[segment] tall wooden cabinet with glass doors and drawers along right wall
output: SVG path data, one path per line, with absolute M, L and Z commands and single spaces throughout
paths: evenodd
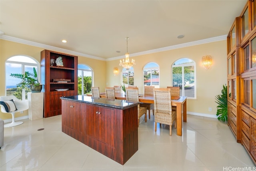
M 256 164 L 256 0 L 246 2 L 227 42 L 228 125 Z

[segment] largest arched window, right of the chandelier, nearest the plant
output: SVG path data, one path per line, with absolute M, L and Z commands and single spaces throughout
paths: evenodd
M 182 96 L 196 98 L 196 63 L 188 58 L 177 60 L 172 65 L 172 86 L 180 87 Z

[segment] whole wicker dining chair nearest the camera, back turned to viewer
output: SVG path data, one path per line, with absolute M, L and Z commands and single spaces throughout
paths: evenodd
M 172 110 L 171 92 L 169 88 L 154 89 L 154 112 L 155 112 L 155 132 L 156 124 L 162 123 L 170 125 L 170 136 L 172 136 L 172 124 L 177 126 L 176 110 Z

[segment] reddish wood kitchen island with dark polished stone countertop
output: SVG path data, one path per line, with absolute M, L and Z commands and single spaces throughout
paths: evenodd
M 124 165 L 138 151 L 138 104 L 84 95 L 60 97 L 62 132 Z

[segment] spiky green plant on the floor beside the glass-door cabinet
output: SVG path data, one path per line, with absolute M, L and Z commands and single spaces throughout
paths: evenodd
M 218 120 L 225 122 L 228 121 L 228 86 L 223 85 L 221 94 L 215 96 L 217 105 Z

